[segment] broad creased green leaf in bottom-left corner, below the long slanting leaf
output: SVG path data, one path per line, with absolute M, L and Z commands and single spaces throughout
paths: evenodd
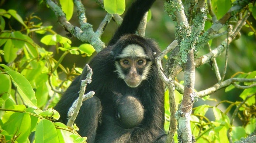
M 27 112 L 13 114 L 2 128 L 10 134 L 19 135 L 17 137 L 18 143 L 24 143 L 30 135 L 31 119 Z

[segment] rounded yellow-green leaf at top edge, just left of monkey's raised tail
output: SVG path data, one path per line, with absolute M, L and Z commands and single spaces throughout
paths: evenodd
M 109 14 L 123 14 L 125 10 L 125 0 L 104 0 L 105 10 Z

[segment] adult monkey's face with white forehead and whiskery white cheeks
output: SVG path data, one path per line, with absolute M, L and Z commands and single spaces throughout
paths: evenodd
M 151 61 L 141 46 L 136 44 L 125 47 L 122 54 L 115 61 L 116 72 L 129 87 L 137 87 L 145 80 L 151 68 Z

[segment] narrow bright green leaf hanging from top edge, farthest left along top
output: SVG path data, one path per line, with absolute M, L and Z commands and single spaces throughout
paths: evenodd
M 63 12 L 66 14 L 66 18 L 69 21 L 73 15 L 74 3 L 73 0 L 60 0 L 60 5 Z

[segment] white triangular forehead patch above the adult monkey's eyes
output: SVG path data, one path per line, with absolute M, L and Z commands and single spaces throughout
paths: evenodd
M 121 55 L 117 56 L 118 58 L 126 58 L 126 57 L 131 57 L 131 58 L 148 58 L 146 56 L 145 51 L 143 48 L 137 44 L 130 44 L 127 47 L 124 48 L 122 51 Z

